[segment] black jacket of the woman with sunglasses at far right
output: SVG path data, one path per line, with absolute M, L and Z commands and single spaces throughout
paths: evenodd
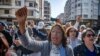
M 81 44 L 74 48 L 74 56 L 87 56 L 85 44 Z M 100 47 L 95 46 L 96 56 L 100 56 Z

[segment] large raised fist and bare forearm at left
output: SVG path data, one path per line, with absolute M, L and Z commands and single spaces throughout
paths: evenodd
M 17 10 L 15 15 L 16 15 L 17 22 L 19 24 L 19 30 L 20 30 L 21 33 L 24 33 L 25 22 L 26 22 L 26 18 L 27 18 L 27 8 L 26 8 L 26 6 Z

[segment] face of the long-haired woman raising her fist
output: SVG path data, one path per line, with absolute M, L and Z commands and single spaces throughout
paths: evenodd
M 62 31 L 59 26 L 55 26 L 51 30 L 51 42 L 55 45 L 61 44 L 62 40 Z

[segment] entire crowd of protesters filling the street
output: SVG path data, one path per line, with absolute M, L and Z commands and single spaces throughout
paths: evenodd
M 100 30 L 80 25 L 81 16 L 74 25 L 57 20 L 45 28 L 42 21 L 27 20 L 26 7 L 15 15 L 17 26 L 0 22 L 0 56 L 100 56 Z

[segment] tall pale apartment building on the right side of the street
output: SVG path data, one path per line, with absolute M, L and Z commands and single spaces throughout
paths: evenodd
M 67 0 L 64 12 L 66 21 L 74 22 L 77 16 L 82 16 L 84 24 L 93 26 L 98 19 L 98 0 Z

